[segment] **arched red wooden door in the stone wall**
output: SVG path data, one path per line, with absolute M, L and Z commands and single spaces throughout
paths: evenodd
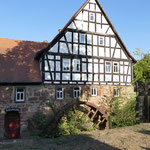
M 6 138 L 20 138 L 20 117 L 18 112 L 8 112 L 5 117 Z

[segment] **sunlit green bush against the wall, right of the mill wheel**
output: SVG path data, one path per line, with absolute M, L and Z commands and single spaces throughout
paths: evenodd
M 113 98 L 109 111 L 110 128 L 134 125 L 137 120 L 135 96 Z

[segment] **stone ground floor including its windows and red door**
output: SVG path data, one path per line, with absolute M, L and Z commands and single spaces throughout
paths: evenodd
M 80 100 L 107 110 L 114 96 L 126 97 L 130 92 L 133 92 L 133 86 L 1 86 L 0 137 L 19 138 L 20 133 L 27 128 L 27 120 L 36 111 L 46 108 L 44 103 L 47 100 L 55 102 L 57 109 L 61 109 L 79 96 Z M 17 130 L 15 134 L 14 130 Z

